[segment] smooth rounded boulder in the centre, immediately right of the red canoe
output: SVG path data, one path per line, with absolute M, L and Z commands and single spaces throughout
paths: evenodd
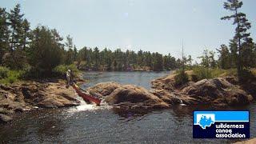
M 90 94 L 97 94 L 111 105 L 126 109 L 162 109 L 170 107 L 162 99 L 148 90 L 134 85 L 121 85 L 116 82 L 102 82 L 88 88 Z

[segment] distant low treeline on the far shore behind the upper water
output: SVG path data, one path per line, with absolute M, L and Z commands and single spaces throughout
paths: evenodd
M 95 47 L 93 50 L 86 47 L 79 50 L 75 58 L 78 67 L 84 70 L 174 70 L 182 65 L 180 59 L 150 51 L 133 50 L 123 52 L 120 49 L 102 51 Z

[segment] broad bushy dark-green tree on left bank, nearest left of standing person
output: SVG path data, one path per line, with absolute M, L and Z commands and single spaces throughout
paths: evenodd
M 54 39 L 52 30 L 38 26 L 32 31 L 30 43 L 30 65 L 40 76 L 49 76 L 55 66 L 61 64 L 62 47 Z

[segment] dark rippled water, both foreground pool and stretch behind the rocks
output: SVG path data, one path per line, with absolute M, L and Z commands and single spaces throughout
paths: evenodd
M 86 86 L 114 81 L 144 86 L 169 72 L 85 73 Z M 86 87 L 85 86 L 85 87 Z M 250 136 L 256 137 L 256 103 L 229 110 L 250 110 Z M 109 106 L 93 105 L 36 110 L 18 114 L 13 122 L 0 125 L 0 142 L 4 143 L 230 143 L 229 139 L 193 139 L 193 110 L 210 110 L 206 106 L 177 106 L 170 110 L 118 111 Z M 237 140 L 236 140 L 237 141 Z

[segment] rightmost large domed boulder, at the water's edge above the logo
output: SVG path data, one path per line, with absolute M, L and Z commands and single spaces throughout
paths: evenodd
M 211 103 L 215 106 L 238 106 L 249 104 L 253 98 L 225 78 L 203 79 L 193 85 L 186 86 L 183 94 L 198 98 L 201 103 Z

